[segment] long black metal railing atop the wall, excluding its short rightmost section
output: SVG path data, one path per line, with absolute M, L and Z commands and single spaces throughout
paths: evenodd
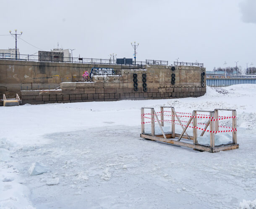
M 85 64 L 116 64 L 116 59 L 94 59 L 94 58 L 83 58 L 83 57 L 63 57 L 63 56 L 42 56 L 42 55 L 30 55 L 30 54 L 18 54 L 18 58 L 15 58 L 15 54 L 0 53 L 0 59 L 10 60 L 24 60 L 24 61 L 44 61 L 44 62 L 71 62 L 71 63 L 85 63 Z M 146 61 L 133 61 L 134 66 L 142 66 L 146 64 L 153 65 L 168 65 L 168 61 L 162 60 L 147 60 Z

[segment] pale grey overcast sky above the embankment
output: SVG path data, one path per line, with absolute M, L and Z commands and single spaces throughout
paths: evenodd
M 1 1 L 0 35 L 23 31 L 44 51 L 75 48 L 73 56 L 256 65 L 256 0 L 12 0 Z M 0 48 L 15 48 L 0 36 Z M 39 49 L 18 40 L 21 54 Z

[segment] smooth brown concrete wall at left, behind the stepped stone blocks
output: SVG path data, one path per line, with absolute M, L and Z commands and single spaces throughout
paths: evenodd
M 0 98 L 14 97 L 21 90 L 54 89 L 61 82 L 79 80 L 92 67 L 120 69 L 117 65 L 55 63 L 0 59 Z

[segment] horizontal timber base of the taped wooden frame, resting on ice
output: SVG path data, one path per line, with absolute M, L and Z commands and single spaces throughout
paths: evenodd
M 210 146 L 201 145 L 201 144 L 185 143 L 185 142 L 178 141 L 178 138 L 170 139 L 172 137 L 171 133 L 167 133 L 165 135 L 166 135 L 167 139 L 165 139 L 163 137 L 163 135 L 152 136 L 149 134 L 142 133 L 141 138 L 149 139 L 152 141 L 170 143 L 170 144 L 179 145 L 179 146 L 183 146 L 183 147 L 188 147 L 188 148 L 192 148 L 194 150 L 207 151 L 210 153 L 217 153 L 219 151 L 233 150 L 233 149 L 239 148 L 239 144 L 234 144 L 234 143 L 230 143 L 230 144 L 226 144 L 226 145 L 218 145 L 215 147 L 210 147 Z M 175 134 L 175 137 L 179 137 L 179 134 Z

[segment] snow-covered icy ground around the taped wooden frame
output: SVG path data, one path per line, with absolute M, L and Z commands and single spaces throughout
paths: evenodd
M 256 85 L 240 84 L 199 98 L 0 107 L 0 208 L 255 208 L 255 102 Z M 161 105 L 236 109 L 239 149 L 141 140 L 140 108 Z

